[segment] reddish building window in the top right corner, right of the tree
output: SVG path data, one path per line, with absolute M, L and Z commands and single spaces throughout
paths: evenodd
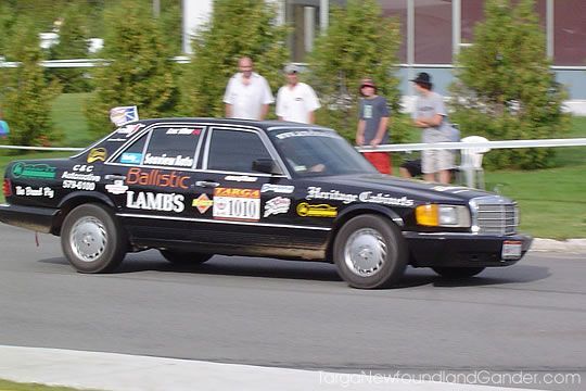
M 555 65 L 586 63 L 586 2 L 556 1 L 553 5 Z

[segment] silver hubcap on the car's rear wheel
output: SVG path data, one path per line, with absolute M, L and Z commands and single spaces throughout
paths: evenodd
M 95 217 L 78 219 L 69 235 L 69 243 L 75 255 L 84 262 L 93 262 L 104 253 L 107 242 L 102 222 Z

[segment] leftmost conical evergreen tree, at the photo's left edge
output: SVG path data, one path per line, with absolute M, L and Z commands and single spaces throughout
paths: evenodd
M 20 146 L 44 146 L 59 138 L 51 124 L 51 101 L 59 94 L 59 87 L 48 84 L 39 47 L 38 30 L 25 17 L 14 26 L 14 36 L 7 51 L 7 60 L 21 65 L 2 71 L 2 106 L 10 124 L 9 142 Z

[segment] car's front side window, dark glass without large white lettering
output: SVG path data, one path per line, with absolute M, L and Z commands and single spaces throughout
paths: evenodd
M 252 165 L 257 159 L 271 159 L 271 155 L 256 133 L 227 129 L 212 133 L 208 169 L 254 173 Z

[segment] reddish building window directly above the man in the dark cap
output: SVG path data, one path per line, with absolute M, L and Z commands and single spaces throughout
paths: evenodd
M 415 0 L 415 62 L 451 63 L 451 0 Z

